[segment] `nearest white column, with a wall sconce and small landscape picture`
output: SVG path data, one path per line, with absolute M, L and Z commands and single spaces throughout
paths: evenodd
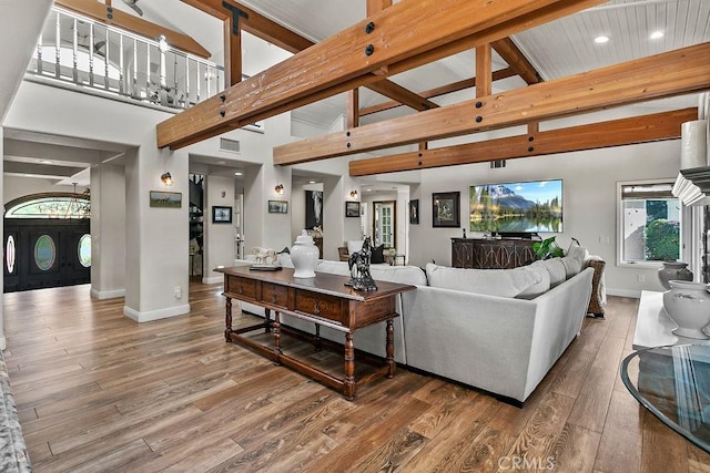
M 173 176 L 170 187 L 161 182 L 165 172 Z M 140 322 L 190 311 L 187 186 L 186 151 L 156 150 L 154 132 L 126 152 L 123 313 Z M 180 206 L 151 206 L 151 191 L 179 194 Z

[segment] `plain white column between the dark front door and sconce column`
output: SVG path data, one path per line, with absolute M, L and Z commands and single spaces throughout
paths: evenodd
M 122 166 L 91 168 L 91 296 L 125 296 L 125 173 Z

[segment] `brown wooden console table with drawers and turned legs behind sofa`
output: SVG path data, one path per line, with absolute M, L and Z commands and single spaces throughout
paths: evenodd
M 347 277 L 325 273 L 316 273 L 315 278 L 294 278 L 292 268 L 283 268 L 277 271 L 256 271 L 251 270 L 248 266 L 235 266 L 215 270 L 224 274 L 223 295 L 226 298 L 224 338 L 227 342 L 250 347 L 276 363 L 307 374 L 332 389 L 342 390 L 348 400 L 354 399 L 357 385 L 366 384 L 383 376 L 387 378 L 394 376 L 393 319 L 398 317 L 398 313 L 395 312 L 395 300 L 398 294 L 413 290 L 415 286 L 377 281 L 377 290 L 359 292 L 344 285 L 348 280 Z M 266 309 L 264 322 L 233 329 L 232 299 L 264 307 Z M 274 311 L 273 320 L 270 317 L 271 310 Z M 316 333 L 313 341 L 316 347 L 320 347 L 321 326 L 329 327 L 345 335 L 345 376 L 343 379 L 282 352 L 281 313 L 315 323 Z M 383 321 L 386 322 L 387 330 L 385 366 L 355 381 L 353 332 Z M 254 330 L 273 332 L 273 347 L 264 346 L 243 336 L 243 333 Z

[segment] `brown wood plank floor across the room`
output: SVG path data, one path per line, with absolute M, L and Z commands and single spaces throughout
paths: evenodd
M 348 402 L 225 343 L 220 292 L 192 285 L 190 315 L 140 325 L 89 286 L 4 295 L 34 471 L 710 471 L 619 379 L 637 299 L 611 297 L 607 320 L 586 320 L 518 409 L 404 369 Z

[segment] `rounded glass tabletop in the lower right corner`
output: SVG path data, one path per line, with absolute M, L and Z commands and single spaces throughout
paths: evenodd
M 636 351 L 621 362 L 621 380 L 661 422 L 710 453 L 710 346 Z

